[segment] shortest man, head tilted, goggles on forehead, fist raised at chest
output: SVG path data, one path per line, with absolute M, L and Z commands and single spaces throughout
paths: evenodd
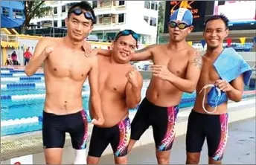
M 109 143 L 115 164 L 127 164 L 130 136 L 129 108 L 141 101 L 143 79 L 129 60 L 137 47 L 138 34 L 132 30 L 118 33 L 112 45 L 111 56 L 97 56 L 99 62 L 99 89 L 103 111 L 103 126 L 94 126 L 87 158 L 88 164 L 97 164 Z M 92 117 L 95 113 L 90 113 Z

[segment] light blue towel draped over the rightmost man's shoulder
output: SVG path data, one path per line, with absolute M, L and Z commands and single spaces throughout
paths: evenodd
M 214 67 L 220 78 L 228 83 L 243 74 L 243 81 L 248 85 L 252 76 L 252 68 L 234 48 L 225 48 L 215 60 Z

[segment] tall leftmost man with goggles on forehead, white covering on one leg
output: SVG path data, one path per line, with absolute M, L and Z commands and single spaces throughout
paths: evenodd
M 82 88 L 89 77 L 95 124 L 102 125 L 103 114 L 98 92 L 97 56 L 87 58 L 84 39 L 92 30 L 95 14 L 86 2 L 74 4 L 68 10 L 65 25 L 67 36 L 43 38 L 25 68 L 32 76 L 44 62 L 45 108 L 42 120 L 42 140 L 46 164 L 61 164 L 65 132 L 71 135 L 76 149 L 74 164 L 86 164 L 87 117 L 83 110 Z

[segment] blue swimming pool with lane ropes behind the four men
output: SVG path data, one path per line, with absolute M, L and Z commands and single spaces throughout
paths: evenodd
M 42 129 L 42 110 L 45 101 L 44 77 L 42 73 L 35 77 L 25 77 L 24 74 L 24 71 L 1 70 L 1 136 Z M 148 84 L 149 80 L 144 80 L 142 98 L 145 96 Z M 87 82 L 83 85 L 82 96 L 83 107 L 88 114 L 89 83 Z M 194 99 L 195 93 L 183 94 L 180 108 L 193 106 Z

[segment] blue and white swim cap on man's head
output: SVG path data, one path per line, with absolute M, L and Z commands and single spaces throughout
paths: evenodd
M 175 10 L 172 15 L 170 15 L 170 22 L 176 20 L 185 22 L 188 25 L 192 25 L 193 15 L 190 10 L 185 8 L 179 8 L 178 10 Z

